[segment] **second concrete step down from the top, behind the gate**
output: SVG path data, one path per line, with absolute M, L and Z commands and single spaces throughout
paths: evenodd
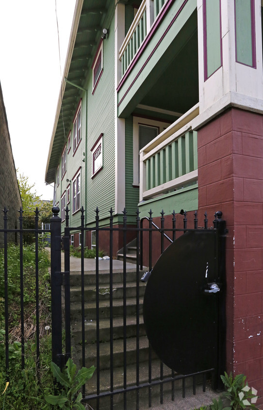
M 144 295 L 146 283 L 139 282 L 140 287 L 140 296 Z M 75 286 L 70 290 L 70 300 L 71 302 L 80 302 L 81 301 L 81 287 Z M 113 286 L 113 297 L 116 299 L 123 298 L 123 283 L 115 283 Z M 136 297 L 136 283 L 127 282 L 126 284 L 126 297 Z M 84 289 L 84 298 L 88 301 L 96 300 L 96 285 L 85 286 Z M 99 285 L 99 300 L 107 300 L 110 298 L 110 288 L 108 285 Z

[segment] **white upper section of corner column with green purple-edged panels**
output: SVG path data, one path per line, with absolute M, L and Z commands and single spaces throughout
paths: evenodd
M 199 110 L 263 109 L 261 0 L 197 0 Z

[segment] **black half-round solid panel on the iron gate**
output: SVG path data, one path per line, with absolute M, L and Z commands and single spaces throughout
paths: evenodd
M 148 279 L 144 323 L 158 357 L 186 375 L 214 368 L 217 358 L 218 280 L 215 232 L 189 231 L 160 256 Z

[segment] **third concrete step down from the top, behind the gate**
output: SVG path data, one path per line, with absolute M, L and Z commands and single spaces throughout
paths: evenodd
M 75 302 L 71 304 L 70 315 L 72 320 L 80 320 L 81 318 L 81 302 Z M 96 301 L 88 302 L 84 304 L 85 320 L 95 320 L 96 319 Z M 143 296 L 139 298 L 139 312 L 143 312 Z M 135 315 L 136 314 L 136 298 L 126 299 L 126 314 Z M 113 316 L 122 317 L 123 316 L 123 299 L 113 299 Z M 110 317 L 110 300 L 102 300 L 99 302 L 99 318 L 107 319 Z

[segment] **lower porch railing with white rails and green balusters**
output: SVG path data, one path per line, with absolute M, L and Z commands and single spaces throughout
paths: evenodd
M 140 202 L 197 182 L 197 103 L 140 151 Z

